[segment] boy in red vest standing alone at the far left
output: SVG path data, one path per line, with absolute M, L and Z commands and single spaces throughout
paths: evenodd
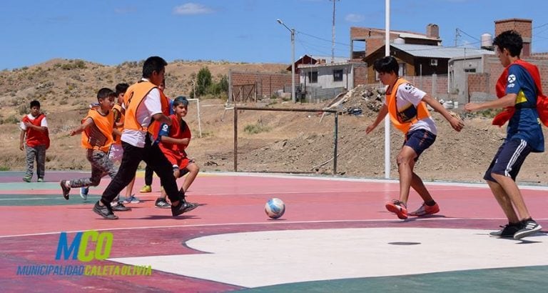
M 31 101 L 31 113 L 21 119 L 19 127 L 21 128 L 19 149 L 24 150 L 26 145 L 26 174 L 23 181 L 31 182 L 34 173 L 34 160 L 36 159 L 36 177 L 38 177 L 38 182 L 44 182 L 49 134 L 46 115 L 40 112 L 39 101 Z

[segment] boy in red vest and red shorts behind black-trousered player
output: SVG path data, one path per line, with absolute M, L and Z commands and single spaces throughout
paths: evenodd
M 171 126 L 163 124 L 158 134 L 160 149 L 168 161 L 173 165 L 173 177 L 176 179 L 188 173 L 180 192 L 185 193 L 200 172 L 200 167 L 194 160 L 188 159 L 186 147 L 191 142 L 191 129 L 183 118 L 188 113 L 188 100 L 185 96 L 178 96 L 173 100 L 173 114 L 169 116 Z M 161 189 L 161 197 L 156 199 L 156 207 L 162 207 L 159 202 L 166 202 L 166 192 Z M 165 205 L 165 204 L 164 204 Z

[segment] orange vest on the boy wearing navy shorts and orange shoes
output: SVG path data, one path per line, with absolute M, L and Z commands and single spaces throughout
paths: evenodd
M 405 114 L 403 114 L 402 112 L 397 111 L 396 94 L 397 89 L 402 84 L 410 84 L 410 82 L 399 77 L 396 80 L 394 86 L 392 86 L 392 91 L 390 92 L 390 94 L 386 95 L 386 105 L 388 108 L 388 114 L 390 114 L 390 120 L 392 121 L 392 124 L 403 133 L 407 133 L 412 124 L 415 124 L 420 119 L 430 117 L 430 112 L 428 111 L 428 109 L 426 109 L 424 101 L 421 101 L 417 105 L 417 114 L 415 114 L 415 116 L 408 117 L 405 116 Z

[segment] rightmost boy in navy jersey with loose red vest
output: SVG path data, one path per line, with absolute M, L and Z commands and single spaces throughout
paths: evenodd
M 544 152 L 544 135 L 537 112 L 537 96 L 542 95 L 542 87 L 537 66 L 519 59 L 523 48 L 522 36 L 516 31 L 504 31 L 493 39 L 493 45 L 505 67 L 496 86 L 499 99 L 468 103 L 465 110 L 507 108 L 493 119 L 493 124 L 499 126 L 509 121 L 507 136 L 483 179 L 508 219 L 503 229 L 490 235 L 522 239 L 542 229 L 529 214 L 515 182 L 529 153 Z

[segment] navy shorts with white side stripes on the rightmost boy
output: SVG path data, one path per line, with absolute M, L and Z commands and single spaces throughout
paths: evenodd
M 487 168 L 483 179 L 497 182 L 491 176 L 494 173 L 512 177 L 516 181 L 519 169 L 522 168 L 522 164 L 529 153 L 531 153 L 531 146 L 523 139 L 504 141 L 502 146 L 499 147 L 497 154 L 494 155 L 493 161 L 489 165 L 489 168 Z

